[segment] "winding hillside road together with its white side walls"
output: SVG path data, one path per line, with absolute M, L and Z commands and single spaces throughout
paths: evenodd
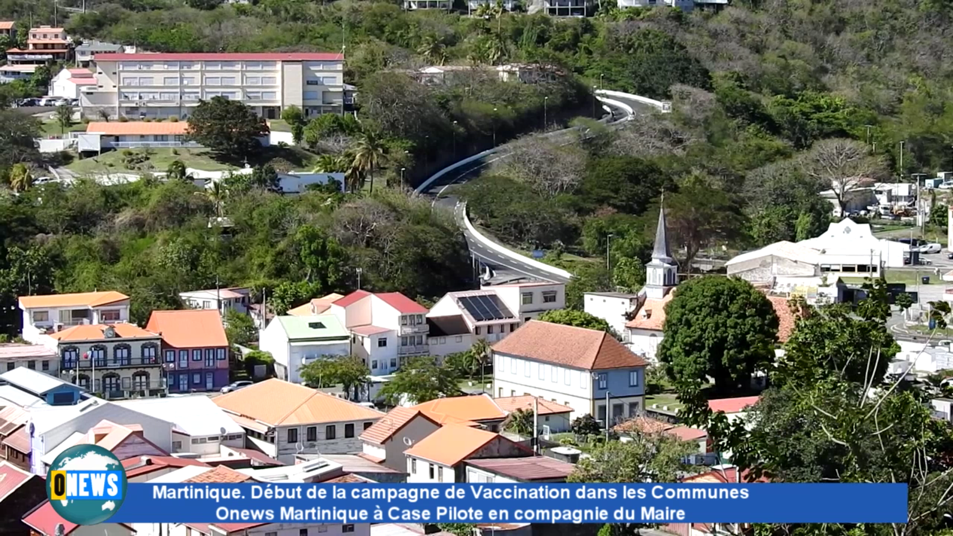
M 660 103 L 646 103 L 649 99 L 643 99 L 637 95 L 622 96 L 625 93 L 609 93 L 612 94 L 606 95 L 605 97 L 603 97 L 603 95 L 599 96 L 599 100 L 603 103 L 603 110 L 606 111 L 606 114 L 601 120 L 609 125 L 621 125 L 624 121 L 629 120 L 631 115 L 630 110 L 632 113 L 651 113 L 658 111 L 660 108 Z M 558 136 L 560 134 L 568 134 L 572 130 L 574 129 L 565 129 L 541 135 Z M 490 238 L 477 236 L 471 229 L 468 229 L 468 226 L 465 224 L 466 205 L 461 203 L 459 199 L 453 195 L 453 190 L 450 189 L 450 187 L 478 176 L 483 168 L 509 155 L 502 153 L 503 150 L 505 150 L 505 146 L 464 158 L 456 162 L 456 164 L 431 175 L 417 187 L 416 193 L 422 196 L 433 197 L 434 200 L 432 204 L 435 208 L 440 207 L 443 210 L 453 211 L 456 221 L 463 230 L 463 236 L 466 237 L 471 256 L 479 261 L 481 274 L 486 274 L 491 277 L 488 282 L 498 284 L 520 278 L 540 279 L 558 283 L 569 282 L 569 277 L 554 273 L 552 269 L 546 269 L 540 266 L 539 262 L 535 259 L 527 258 L 513 251 L 509 251 L 509 255 L 502 253 L 500 251 L 501 249 L 507 250 L 508 248 L 502 244 L 497 244 L 495 248 L 489 241 Z

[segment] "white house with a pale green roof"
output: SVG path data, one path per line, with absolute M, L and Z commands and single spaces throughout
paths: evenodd
M 258 347 L 274 358 L 278 378 L 301 382 L 300 369 L 322 356 L 348 356 L 351 336 L 335 315 L 275 317 L 261 332 Z

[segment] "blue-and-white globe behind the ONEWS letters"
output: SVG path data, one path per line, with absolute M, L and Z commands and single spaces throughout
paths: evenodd
M 65 481 L 62 478 L 51 478 L 52 471 L 119 471 L 120 479 L 116 483 L 120 490 L 119 499 L 91 498 L 91 499 L 54 499 L 63 495 Z M 95 485 L 84 482 L 90 488 Z M 59 486 L 54 489 L 53 486 Z M 53 460 L 47 475 L 47 497 L 56 513 L 66 521 L 75 525 L 96 525 L 104 523 L 119 510 L 126 498 L 126 472 L 122 463 L 113 456 L 112 452 L 94 444 L 77 444 L 64 450 Z M 66 486 L 71 490 L 73 487 Z

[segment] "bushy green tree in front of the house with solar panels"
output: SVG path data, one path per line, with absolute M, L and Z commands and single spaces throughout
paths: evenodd
M 394 378 L 381 387 L 380 396 L 395 405 L 455 397 L 461 394 L 456 381 L 453 371 L 437 366 L 433 356 L 418 356 L 401 365 Z

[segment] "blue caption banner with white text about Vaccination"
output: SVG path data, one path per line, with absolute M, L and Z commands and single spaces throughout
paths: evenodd
M 906 484 L 129 484 L 110 523 L 905 523 Z

